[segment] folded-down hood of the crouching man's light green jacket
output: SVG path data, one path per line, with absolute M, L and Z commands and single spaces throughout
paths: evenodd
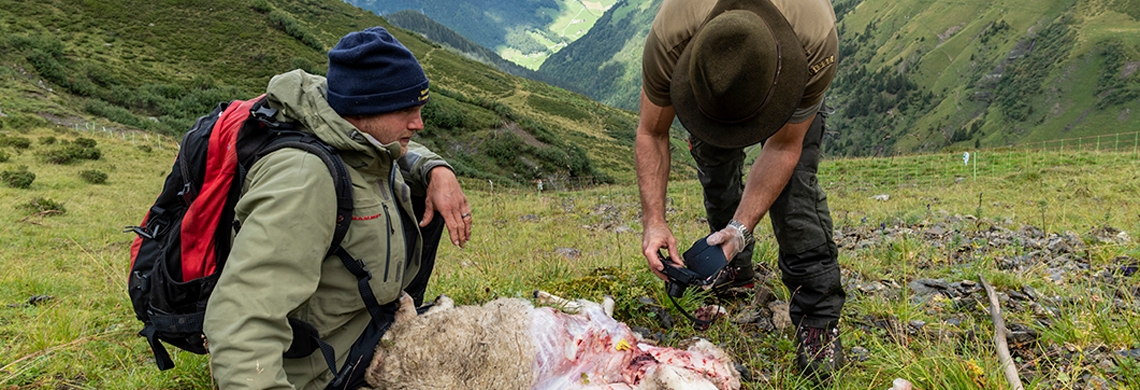
M 283 115 L 283 120 L 300 122 L 303 128 L 336 149 L 369 155 L 386 151 L 393 160 L 398 159 L 400 143 L 380 144 L 357 130 L 328 105 L 327 86 L 324 76 L 295 70 L 270 79 L 266 95 L 269 106 L 279 109 L 278 115 Z

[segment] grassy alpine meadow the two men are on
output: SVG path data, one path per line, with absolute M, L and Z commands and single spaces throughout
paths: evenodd
M 8 139 L 28 140 L 26 148 L 0 146 L 8 157 L 0 162 L 0 172 L 26 165 L 35 174 L 26 189 L 0 185 L 0 388 L 212 388 L 205 356 L 178 352 L 174 369 L 157 371 L 145 340 L 136 335 L 140 324 L 125 293 L 133 235 L 122 233 L 123 227 L 137 225 L 154 201 L 177 144 L 141 132 L 79 129 L 0 131 Z M 81 137 L 97 141 L 100 159 L 43 161 L 47 151 Z M 1090 233 L 1113 227 L 1140 235 L 1140 159 L 1131 149 L 993 155 L 988 159 L 1008 156 L 1010 162 L 984 165 L 990 169 L 976 177 L 960 155 L 823 164 L 821 184 L 829 193 L 837 235 L 863 231 L 876 237 L 852 249 L 841 244 L 845 283 L 901 286 L 888 293 L 846 287 L 841 331 L 852 363 L 828 388 L 885 389 L 893 379 L 904 377 L 921 389 L 1005 389 L 993 325 L 982 303 L 985 295 L 977 304 L 944 304 L 939 298 L 915 301 L 907 287 L 920 278 L 958 282 L 979 276 L 1010 295 L 1032 287 L 1054 309 L 1042 322 L 1032 310 L 1003 307 L 1007 324 L 1026 324 L 1036 332 L 1026 350 L 1059 351 L 1018 361 L 1035 367 L 1024 376 L 1027 388 L 1093 388 L 1098 380 L 1109 388 L 1140 388 L 1140 356 L 1124 354 L 1140 349 L 1140 276 L 1098 277 L 1121 261 L 1134 263 L 1140 249 L 1134 239 L 1102 242 Z M 81 179 L 80 172 L 89 170 L 105 172 L 106 182 Z M 481 303 L 529 296 L 536 289 L 591 300 L 610 294 L 617 299 L 619 320 L 658 334 L 662 343 L 698 335 L 724 346 L 751 372 L 746 389 L 808 387 L 795 373 L 790 330 L 765 332 L 730 320 L 747 309 L 750 295 L 717 302 L 730 309 L 730 318 L 707 331 L 694 331 L 677 311 L 671 311 L 671 328 L 661 326 L 656 310 L 673 308 L 663 303 L 663 285 L 645 270 L 640 254 L 634 184 L 538 192 L 470 180 L 465 188 L 475 217 L 473 238 L 465 249 L 441 246 L 429 296 L 448 294 L 458 303 Z M 46 212 L 33 203 L 65 210 Z M 695 181 L 670 186 L 668 216 L 685 245 L 707 234 L 702 210 Z M 1060 281 L 1050 278 L 1044 266 L 1001 269 L 1003 259 L 1032 257 L 1031 251 L 971 238 L 1025 225 L 1081 237 L 1085 268 Z M 961 238 L 956 245 L 926 239 L 935 226 L 944 236 Z M 901 234 L 901 228 L 913 234 Z M 767 221 L 756 236 L 757 263 L 777 270 Z M 787 299 L 779 273 L 769 276 L 763 284 Z M 691 310 L 714 302 L 691 294 L 681 303 Z M 915 320 L 926 324 L 922 331 L 881 326 Z

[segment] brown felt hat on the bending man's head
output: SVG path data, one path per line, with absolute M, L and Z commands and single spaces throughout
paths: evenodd
M 743 147 L 788 122 L 806 83 L 804 48 L 772 2 L 720 0 L 681 52 L 669 95 L 693 136 Z

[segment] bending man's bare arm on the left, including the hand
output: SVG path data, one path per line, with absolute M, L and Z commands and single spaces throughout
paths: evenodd
M 666 247 L 669 257 L 678 265 L 677 238 L 665 220 L 665 194 L 669 181 L 669 127 L 675 112 L 673 106 L 654 105 L 641 94 L 641 116 L 634 141 L 634 160 L 637 166 L 637 188 L 642 202 L 642 255 L 649 261 L 650 270 L 658 277 L 661 261 L 657 253 Z

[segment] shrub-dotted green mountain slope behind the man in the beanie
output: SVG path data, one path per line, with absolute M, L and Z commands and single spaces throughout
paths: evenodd
M 97 123 L 178 136 L 219 101 L 261 94 L 274 74 L 324 73 L 327 48 L 373 25 L 389 26 L 333 0 L 0 0 L 0 131 Z M 390 30 L 432 80 L 417 140 L 461 176 L 633 180 L 632 113 Z

